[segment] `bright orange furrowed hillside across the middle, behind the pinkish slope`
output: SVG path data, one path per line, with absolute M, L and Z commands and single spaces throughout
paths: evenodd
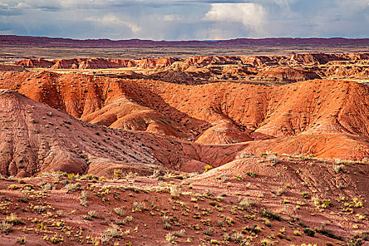
M 192 139 L 212 124 L 226 122 L 239 134 L 244 131 L 255 140 L 287 136 L 282 138 L 284 143 L 279 142 L 278 153 L 284 150 L 340 158 L 347 155 L 356 160 L 368 157 L 369 88 L 356 82 L 313 80 L 275 87 L 223 82 L 186 86 L 51 72 L 1 75 L 1 88 L 18 89 L 34 100 L 107 127 Z M 223 141 L 222 131 L 211 129 L 202 136 L 209 132 L 219 135 L 209 140 L 200 136 L 197 139 L 202 139 L 202 143 L 246 140 Z M 330 145 L 316 134 L 322 134 Z M 332 137 L 334 134 L 341 135 Z M 293 144 L 294 139 L 299 139 L 298 145 Z M 353 139 L 361 148 L 347 145 Z M 250 147 L 254 151 L 276 150 L 272 143 L 273 140 L 247 145 L 254 146 Z M 344 151 L 336 148 L 341 144 L 346 146 Z

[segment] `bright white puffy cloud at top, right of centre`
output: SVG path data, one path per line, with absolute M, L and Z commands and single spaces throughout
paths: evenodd
M 263 32 L 265 20 L 264 8 L 259 4 L 211 4 L 211 9 L 205 14 L 205 20 L 219 22 L 241 22 L 256 33 Z

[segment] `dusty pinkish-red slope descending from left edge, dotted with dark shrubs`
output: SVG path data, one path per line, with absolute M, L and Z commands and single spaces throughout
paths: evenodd
M 114 168 L 200 171 L 233 160 L 240 145 L 207 146 L 81 122 L 15 91 L 0 91 L 0 170 L 8 176 L 40 171 L 101 174 Z M 229 155 L 224 155 L 224 151 Z M 137 166 L 138 165 L 138 166 Z M 103 170 L 103 171 L 102 171 Z

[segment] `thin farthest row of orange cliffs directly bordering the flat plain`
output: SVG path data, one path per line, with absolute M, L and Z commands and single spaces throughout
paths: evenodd
M 190 67 L 207 65 L 324 65 L 335 61 L 369 60 L 369 53 L 301 53 L 287 56 L 190 56 L 189 58 L 143 58 L 140 60 L 111 58 L 73 58 L 45 60 L 43 58 L 18 60 L 14 65 L 22 67 L 46 67 L 53 69 L 105 69 L 136 67 L 141 69 L 188 70 Z

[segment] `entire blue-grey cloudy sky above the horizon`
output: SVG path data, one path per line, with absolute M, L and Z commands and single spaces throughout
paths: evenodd
M 0 34 L 74 39 L 369 37 L 369 0 L 0 0 Z

